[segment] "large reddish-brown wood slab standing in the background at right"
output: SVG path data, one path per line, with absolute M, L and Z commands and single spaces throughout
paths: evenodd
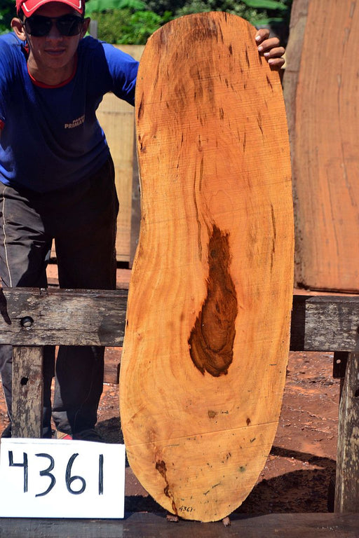
M 295 277 L 311 289 L 358 291 L 359 3 L 296 0 L 293 9 L 297 4 L 307 10 L 299 18 L 306 20 L 303 48 L 292 54 L 290 46 L 287 68 L 295 71 L 295 57 L 301 62 L 294 95 L 293 88 L 286 88 L 288 98 L 292 92 L 287 104 L 295 116 L 295 125 L 290 122 Z

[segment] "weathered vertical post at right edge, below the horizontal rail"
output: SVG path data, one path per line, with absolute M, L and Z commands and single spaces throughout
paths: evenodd
M 339 405 L 334 510 L 359 512 L 359 353 L 350 353 Z

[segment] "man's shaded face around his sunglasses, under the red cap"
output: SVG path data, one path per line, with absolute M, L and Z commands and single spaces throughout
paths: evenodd
M 50 2 L 41 6 L 35 15 L 43 17 L 57 18 L 62 15 L 77 15 L 79 13 L 66 4 L 59 2 Z M 53 23 L 50 32 L 47 36 L 35 37 L 27 34 L 27 42 L 29 43 L 29 66 L 31 62 L 36 63 L 37 70 L 41 72 L 55 70 L 63 70 L 73 65 L 79 41 L 86 33 L 88 23 L 84 22 L 83 31 L 76 36 L 62 36 Z

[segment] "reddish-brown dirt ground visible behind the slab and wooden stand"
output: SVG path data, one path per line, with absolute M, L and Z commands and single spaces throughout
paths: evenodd
M 128 272 L 119 274 L 121 286 Z M 50 282 L 55 283 L 55 276 Z M 118 348 L 107 348 L 112 357 Z M 283 408 L 266 465 L 238 513 L 327 511 L 335 475 L 339 380 L 332 378 L 332 353 L 291 352 Z M 0 390 L 0 431 L 8 419 Z M 97 428 L 109 443 L 122 442 L 118 385 L 104 384 Z M 126 468 L 126 511 L 163 511 Z

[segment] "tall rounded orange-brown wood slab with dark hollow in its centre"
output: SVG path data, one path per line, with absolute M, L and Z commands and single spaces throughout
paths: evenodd
M 280 413 L 292 191 L 278 73 L 225 13 L 165 25 L 137 78 L 140 241 L 121 364 L 128 460 L 172 513 L 248 495 Z

